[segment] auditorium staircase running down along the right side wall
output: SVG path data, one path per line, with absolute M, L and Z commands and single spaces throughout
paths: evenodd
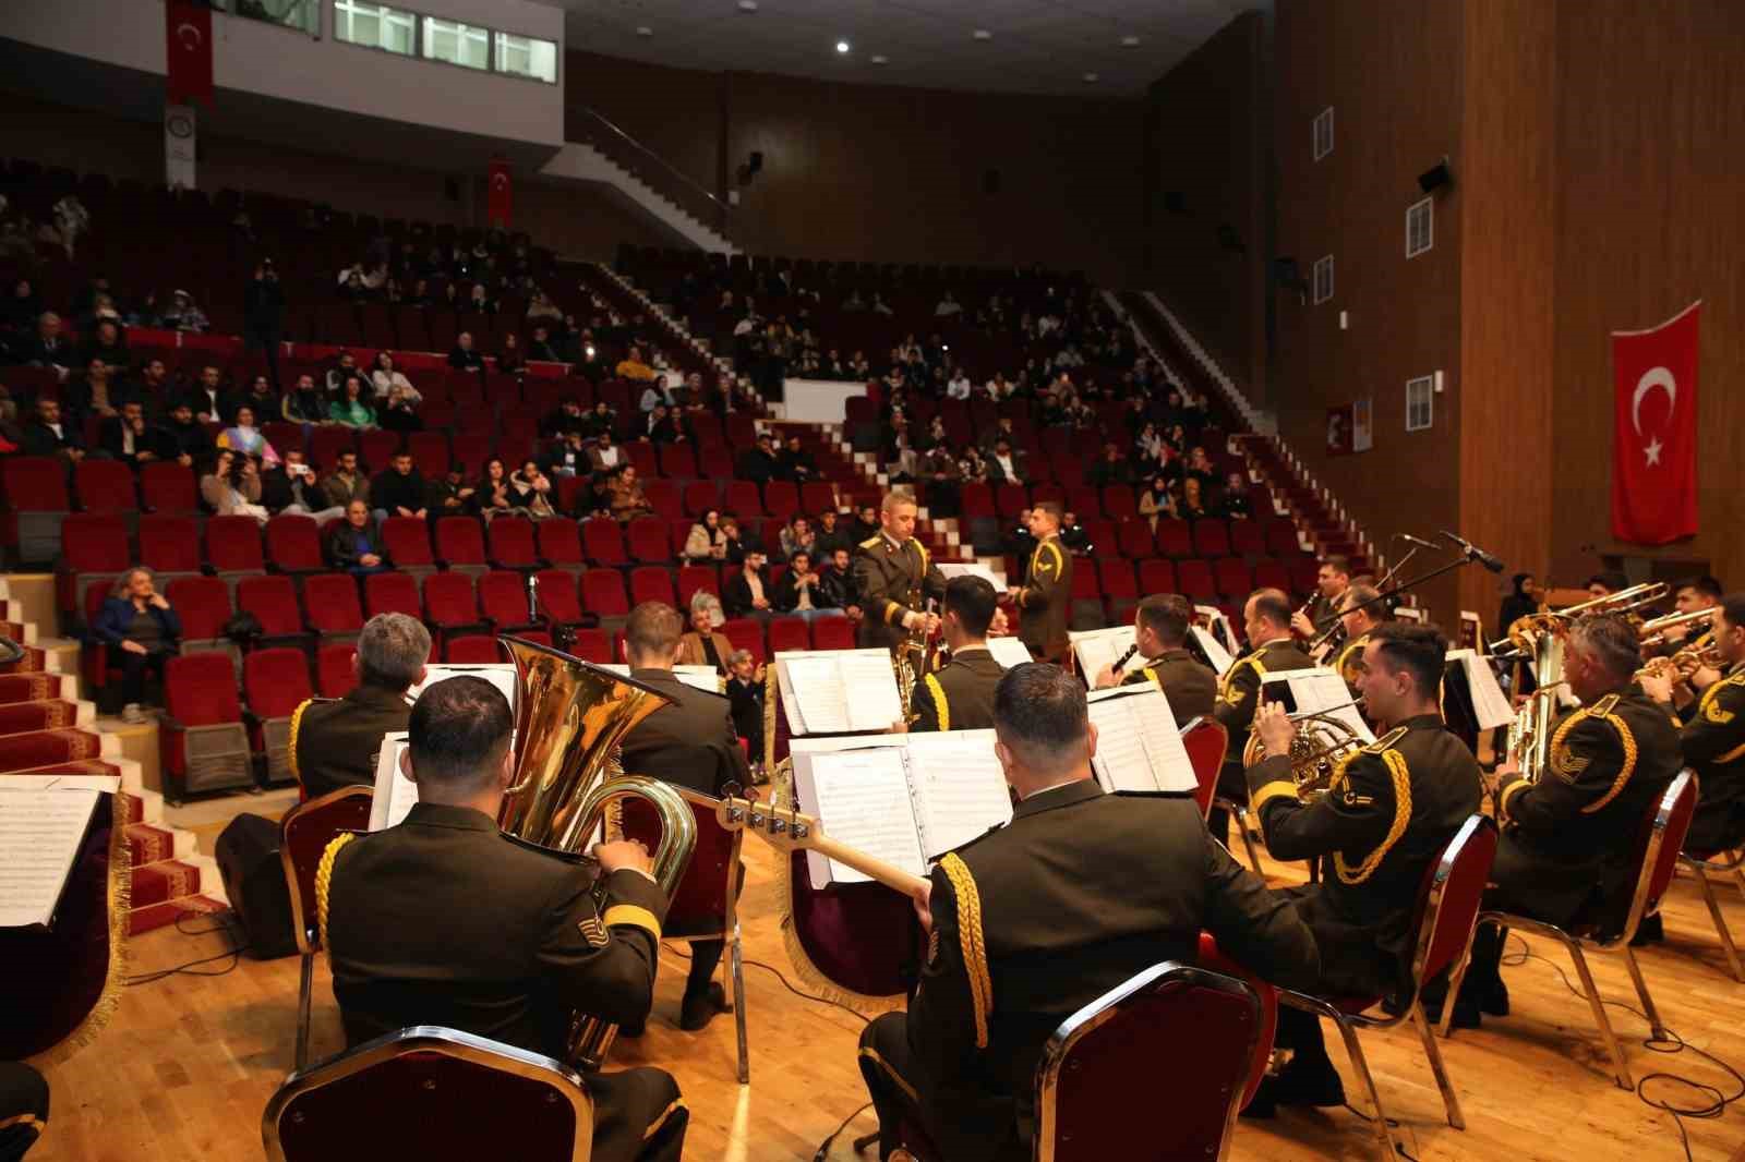
M 1155 291 L 1105 291 L 1134 338 L 1174 382 L 1206 396 L 1230 422 L 1230 452 L 1241 454 L 1270 489 L 1284 515 L 1297 522 L 1298 539 L 1316 557 L 1349 557 L 1352 571 L 1380 565 L 1370 537 L 1330 489 L 1277 434 L 1274 417 L 1260 412 L 1206 347 Z

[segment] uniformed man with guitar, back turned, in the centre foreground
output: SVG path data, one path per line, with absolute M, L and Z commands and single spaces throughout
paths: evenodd
M 1019 799 L 1012 822 L 934 867 L 916 900 L 928 930 L 920 988 L 906 1014 L 860 1036 L 881 1159 L 916 1120 L 953 1162 L 1030 1162 L 1031 1078 L 1049 1035 L 1134 974 L 1192 961 L 1202 928 L 1269 981 L 1316 975 L 1295 909 L 1211 841 L 1192 796 L 1096 785 L 1077 677 L 1012 666 L 995 731 Z

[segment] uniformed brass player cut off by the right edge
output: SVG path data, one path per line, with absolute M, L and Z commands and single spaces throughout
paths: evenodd
M 1684 848 L 1698 855 L 1745 843 L 1745 593 L 1731 593 L 1721 604 L 1710 633 L 1721 670 L 1698 668 L 1689 687 L 1642 679 L 1642 689 L 1661 707 L 1682 703 L 1679 748 L 1703 796 Z

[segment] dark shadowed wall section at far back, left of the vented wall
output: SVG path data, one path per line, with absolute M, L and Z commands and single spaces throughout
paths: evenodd
M 1146 94 L 1139 277 L 1183 316 L 1237 384 L 1265 401 L 1270 122 L 1260 84 L 1267 21 L 1246 12 Z M 1166 197 L 1180 195 L 1180 209 Z M 1220 239 L 1230 227 L 1244 249 Z

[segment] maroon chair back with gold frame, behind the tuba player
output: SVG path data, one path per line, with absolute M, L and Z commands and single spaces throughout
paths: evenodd
M 504 1153 L 504 1127 L 515 1127 L 517 1159 L 579 1162 L 590 1157 L 593 1099 L 551 1057 L 414 1026 L 288 1077 L 260 1138 L 269 1162 L 490 1159 Z

